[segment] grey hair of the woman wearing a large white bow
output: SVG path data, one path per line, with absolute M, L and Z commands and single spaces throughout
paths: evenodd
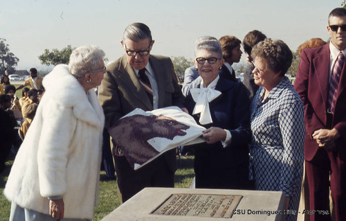
M 194 47 L 194 57 L 197 56 L 197 51 L 204 49 L 206 51 L 214 51 L 218 53 L 219 59 L 222 58 L 221 44 L 218 39 L 211 36 L 202 36 L 197 38 Z

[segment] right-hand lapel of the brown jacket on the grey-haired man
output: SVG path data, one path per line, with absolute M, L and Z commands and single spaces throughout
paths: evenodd
M 150 55 L 149 63 L 152 66 L 154 71 L 154 76 L 158 89 L 158 108 L 164 107 L 165 102 L 165 68 L 163 67 L 162 62 L 158 60 L 154 55 Z

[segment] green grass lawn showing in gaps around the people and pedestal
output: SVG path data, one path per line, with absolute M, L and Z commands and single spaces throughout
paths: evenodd
M 175 184 L 176 188 L 189 188 L 194 177 L 193 170 L 194 157 L 177 159 L 176 163 L 178 170 L 175 173 Z M 0 221 L 7 221 L 10 217 L 10 202 L 6 200 L 3 195 L 3 188 L 5 187 L 8 174 L 13 161 L 6 162 L 6 170 L 0 174 Z M 101 172 L 100 177 L 100 193 L 99 193 L 98 206 L 95 208 L 95 214 L 93 220 L 101 220 L 108 213 L 116 209 L 120 205 L 118 192 L 116 189 L 116 181 L 108 180 L 106 173 Z

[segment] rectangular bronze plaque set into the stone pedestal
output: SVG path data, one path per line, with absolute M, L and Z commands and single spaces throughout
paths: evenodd
M 231 218 L 242 195 L 172 194 L 150 214 Z

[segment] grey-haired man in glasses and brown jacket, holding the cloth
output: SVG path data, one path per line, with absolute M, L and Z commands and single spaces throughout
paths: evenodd
M 119 118 L 136 108 L 151 111 L 172 105 L 183 107 L 183 94 L 172 61 L 150 55 L 154 40 L 149 28 L 142 23 L 130 24 L 125 28 L 121 44 L 125 55 L 107 65 L 98 94 L 105 127 L 113 127 Z M 122 202 L 145 187 L 174 187 L 174 150 L 138 170 L 129 166 L 121 150 L 113 148 L 112 152 Z

